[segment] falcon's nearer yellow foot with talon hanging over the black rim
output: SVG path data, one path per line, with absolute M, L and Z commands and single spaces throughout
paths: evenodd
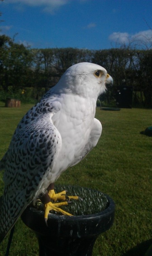
M 45 210 L 44 219 L 45 219 L 46 224 L 47 224 L 48 214 L 52 210 L 54 210 L 56 212 L 61 212 L 63 215 L 73 216 L 69 212 L 65 212 L 64 210 L 59 208 L 59 206 L 61 206 L 61 205 L 68 205 L 68 202 L 61 202 L 61 203 L 49 202 L 49 203 L 44 204 L 44 210 Z

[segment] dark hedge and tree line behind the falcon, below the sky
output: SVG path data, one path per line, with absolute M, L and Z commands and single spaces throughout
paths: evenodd
M 102 96 L 107 104 L 115 101 L 117 86 L 125 85 L 133 86 L 135 106 L 152 108 L 152 49 L 33 49 L 6 35 L 0 35 L 0 100 L 39 100 L 67 68 L 83 61 L 103 66 L 113 77 L 113 88 Z

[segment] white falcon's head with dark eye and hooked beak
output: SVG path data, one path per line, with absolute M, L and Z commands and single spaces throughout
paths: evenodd
M 97 99 L 106 90 L 106 84 L 110 83 L 113 83 L 113 79 L 105 68 L 90 62 L 81 62 L 65 71 L 58 86 L 67 93 L 69 91 L 82 97 Z

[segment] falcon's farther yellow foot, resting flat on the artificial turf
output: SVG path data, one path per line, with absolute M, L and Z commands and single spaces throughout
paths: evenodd
M 70 200 L 70 199 L 75 199 L 75 200 L 78 200 L 78 199 L 81 199 L 80 197 L 78 196 L 67 196 L 66 195 L 67 191 L 66 190 L 63 190 L 62 192 L 60 193 L 57 193 L 55 194 L 55 191 L 54 189 L 51 189 L 49 192 L 48 192 L 48 195 L 49 197 L 53 200 L 53 201 L 57 201 L 57 200 Z

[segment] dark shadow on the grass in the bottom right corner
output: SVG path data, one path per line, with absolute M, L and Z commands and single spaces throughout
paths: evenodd
M 144 256 L 148 248 L 152 245 L 152 239 L 137 244 L 128 252 L 122 254 L 122 256 Z

